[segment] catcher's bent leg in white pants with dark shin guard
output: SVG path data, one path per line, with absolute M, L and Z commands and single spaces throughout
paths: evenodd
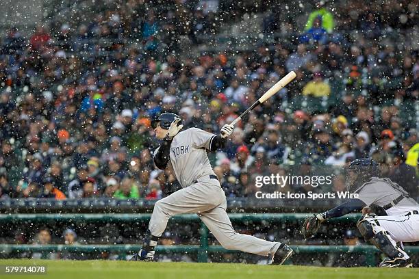
M 366 241 L 370 241 L 387 256 L 380 267 L 411 267 L 407 253 L 396 245 L 398 241 L 411 241 L 407 233 L 411 225 L 405 216 L 375 215 L 364 215 L 357 224 Z

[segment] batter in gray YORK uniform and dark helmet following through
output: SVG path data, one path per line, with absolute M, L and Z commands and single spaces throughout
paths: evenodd
M 268 256 L 268 263 L 279 265 L 292 255 L 293 250 L 285 243 L 242 235 L 231 226 L 224 191 L 207 157 L 207 150 L 225 146 L 227 136 L 233 131 L 231 125 L 225 124 L 220 135 L 197 128 L 181 131 L 179 116 L 164 113 L 151 126 L 157 139 L 162 139 L 154 153 L 155 165 L 160 170 L 172 165 L 183 189 L 155 203 L 142 249 L 131 261 L 153 261 L 154 248 L 169 218 L 182 213 L 197 213 L 226 249 Z

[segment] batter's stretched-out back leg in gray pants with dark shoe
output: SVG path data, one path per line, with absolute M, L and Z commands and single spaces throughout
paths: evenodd
M 200 213 L 199 217 L 218 242 L 228 250 L 269 256 L 269 263 L 276 264 L 283 263 L 293 252 L 285 243 L 266 241 L 252 235 L 236 233 L 226 212 L 226 202 L 211 211 Z

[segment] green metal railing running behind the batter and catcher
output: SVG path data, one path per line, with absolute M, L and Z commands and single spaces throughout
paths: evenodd
M 302 221 L 309 213 L 231 213 L 229 217 L 233 223 L 240 222 L 293 222 Z M 11 214 L 0 215 L 0 223 L 9 222 L 147 222 L 151 214 Z M 359 214 L 349 214 L 344 217 L 329 220 L 335 222 L 356 222 Z M 173 222 L 200 222 L 199 217 L 195 214 L 184 214 L 172 217 Z M 208 229 L 201 222 L 200 226 L 200 244 L 199 245 L 158 245 L 157 252 L 162 253 L 196 253 L 199 262 L 207 262 L 208 253 L 223 252 L 236 253 L 238 251 L 225 250 L 220 245 L 208 244 Z M 296 254 L 314 254 L 314 253 L 358 253 L 366 255 L 366 265 L 377 265 L 375 254 L 379 252 L 372 245 L 291 245 Z M 114 252 L 120 255 L 127 255 L 140 249 L 140 245 L 19 245 L 19 244 L 0 244 L 1 254 L 9 254 L 11 252 L 84 252 L 84 253 L 101 253 Z M 406 251 L 411 254 L 419 254 L 419 247 L 406 246 Z

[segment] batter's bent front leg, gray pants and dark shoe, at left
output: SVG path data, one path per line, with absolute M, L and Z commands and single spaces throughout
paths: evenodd
M 220 198 L 220 187 L 196 183 L 190 187 L 179 189 L 175 193 L 157 200 L 149 222 L 149 229 L 143 239 L 142 249 L 136 253 L 132 261 L 152 261 L 154 248 L 159 237 L 166 229 L 170 217 L 182 213 L 199 213 L 216 207 L 223 199 Z M 224 195 L 224 192 L 223 192 Z

